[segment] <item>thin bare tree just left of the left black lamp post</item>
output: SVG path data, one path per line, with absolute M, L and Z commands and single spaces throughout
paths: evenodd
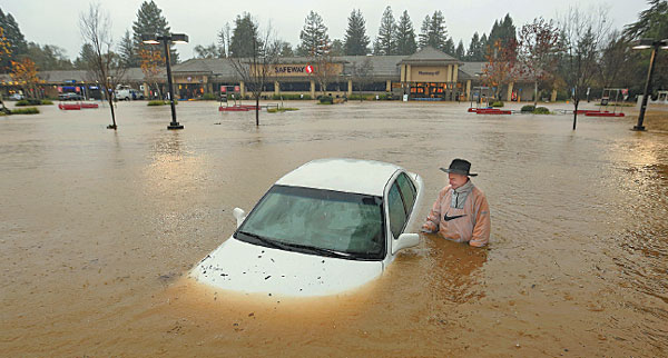
M 87 59 L 90 77 L 100 83 L 111 110 L 111 125 L 108 129 L 117 129 L 114 113 L 114 88 L 125 76 L 125 68 L 112 49 L 111 20 L 109 13 L 99 3 L 91 3 L 87 12 L 79 14 L 79 30 L 84 43 L 90 44 L 92 53 Z

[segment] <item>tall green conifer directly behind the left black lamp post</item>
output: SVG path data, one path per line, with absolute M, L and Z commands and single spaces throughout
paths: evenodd
M 132 37 L 135 39 L 135 57 L 137 62 L 140 62 L 139 51 L 163 51 L 163 44 L 147 44 L 141 42 L 143 34 L 159 34 L 166 36 L 171 32 L 167 19 L 163 16 L 163 10 L 153 1 L 144 1 L 137 11 L 137 20 L 132 22 Z M 134 60 L 135 61 L 135 60 Z M 132 61 L 132 62 L 134 62 Z M 169 46 L 170 63 L 178 63 L 178 52 L 174 44 Z

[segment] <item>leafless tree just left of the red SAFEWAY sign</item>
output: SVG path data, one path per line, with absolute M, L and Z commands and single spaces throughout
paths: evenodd
M 259 28 L 257 23 L 255 28 Z M 269 26 L 262 33 L 262 38 L 254 36 L 250 44 L 253 47 L 250 57 L 230 57 L 228 60 L 255 99 L 255 126 L 259 126 L 259 97 L 265 84 L 272 82 L 276 76 L 275 67 L 278 63 L 281 41 L 276 40 Z

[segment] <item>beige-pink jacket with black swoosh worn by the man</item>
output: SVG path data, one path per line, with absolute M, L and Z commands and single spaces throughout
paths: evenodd
M 439 233 L 450 240 L 482 247 L 490 241 L 490 207 L 482 190 L 473 187 L 462 209 L 452 207 L 452 188 L 443 188 L 432 206 L 423 231 Z

